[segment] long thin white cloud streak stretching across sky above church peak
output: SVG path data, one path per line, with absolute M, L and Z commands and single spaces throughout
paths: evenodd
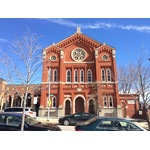
M 47 20 L 52 23 L 68 26 L 68 27 L 81 27 L 83 29 L 122 29 L 122 30 L 133 30 L 139 32 L 150 32 L 150 26 L 137 26 L 137 25 L 121 25 L 115 23 L 105 23 L 99 22 L 94 24 L 78 24 L 66 19 L 49 19 L 49 18 L 41 18 L 42 20 Z

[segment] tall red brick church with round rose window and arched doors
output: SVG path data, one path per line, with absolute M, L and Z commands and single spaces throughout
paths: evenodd
M 70 37 L 43 50 L 40 114 L 85 111 L 122 117 L 119 100 L 115 48 L 83 34 L 80 28 Z M 50 92 L 49 92 L 50 91 Z

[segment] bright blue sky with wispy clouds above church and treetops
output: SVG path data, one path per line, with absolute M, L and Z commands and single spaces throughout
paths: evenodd
M 42 48 L 57 43 L 76 32 L 116 48 L 117 66 L 127 65 L 144 47 L 150 54 L 150 19 L 144 18 L 1 18 L 0 47 L 7 49 L 9 41 L 27 28 L 42 36 Z

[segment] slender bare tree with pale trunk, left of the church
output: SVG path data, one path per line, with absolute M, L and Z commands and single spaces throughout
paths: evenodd
M 24 32 L 23 35 L 16 36 L 15 42 L 11 43 L 7 51 L 0 50 L 0 63 L 7 81 L 14 86 L 16 83 L 22 84 L 26 89 L 21 131 L 24 130 L 25 107 L 29 87 L 37 80 L 37 74 L 42 64 L 39 38 L 40 36 L 27 29 L 27 32 Z

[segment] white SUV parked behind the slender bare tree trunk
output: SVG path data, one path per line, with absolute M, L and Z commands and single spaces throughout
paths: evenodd
M 3 112 L 11 112 L 11 113 L 23 113 L 23 107 L 7 107 L 2 110 Z M 36 117 L 36 111 L 31 107 L 25 108 L 25 114 L 31 117 Z

